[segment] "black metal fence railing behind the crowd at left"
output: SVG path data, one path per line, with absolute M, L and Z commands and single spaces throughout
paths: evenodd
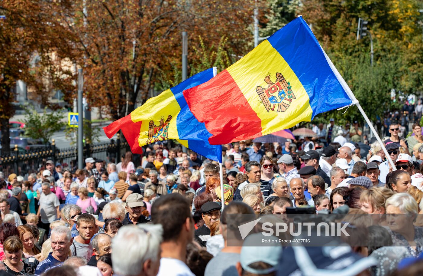
M 121 141 L 118 134 L 118 138 L 111 139 L 110 142 L 85 144 L 83 155 L 84 159 L 93 157 L 107 163 L 118 163 L 126 151 L 130 151 L 129 145 L 126 141 Z M 133 159 L 135 166 L 140 164 L 140 156 L 134 154 Z M 11 173 L 16 173 L 26 179 L 30 173 L 38 173 L 47 160 L 53 160 L 55 164 L 60 163 L 63 170 L 74 171 L 78 166 L 78 149 L 56 148 L 54 140 L 52 145 L 30 148 L 28 151 L 15 147 L 9 156 L 0 157 L 0 172 L 3 172 L 6 178 Z

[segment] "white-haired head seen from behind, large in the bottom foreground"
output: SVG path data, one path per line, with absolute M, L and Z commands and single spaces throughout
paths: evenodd
M 121 276 L 155 276 L 160 266 L 162 226 L 127 226 L 112 240 L 113 271 Z

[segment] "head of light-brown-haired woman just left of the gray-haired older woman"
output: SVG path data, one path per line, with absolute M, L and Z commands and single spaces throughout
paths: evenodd
M 385 214 L 385 203 L 387 198 L 394 194 L 385 187 L 373 187 L 363 190 L 360 194 L 361 209 L 368 214 Z

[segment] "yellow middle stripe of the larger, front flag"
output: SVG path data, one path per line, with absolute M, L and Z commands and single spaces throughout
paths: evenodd
M 248 70 L 246 71 L 245 68 Z M 263 135 L 291 127 L 290 121 L 294 118 L 297 121 L 311 120 L 312 109 L 307 92 L 285 59 L 267 40 L 227 70 L 261 119 Z M 265 90 L 269 87 L 278 87 L 273 86 L 278 84 L 277 73 L 281 74 L 278 74 L 279 80 L 281 80 L 280 76 L 283 76 L 286 82 L 279 81 L 284 91 L 281 95 L 278 95 L 277 89 L 274 89 L 274 94 L 271 94 L 275 96 L 273 102 L 276 104 L 273 104 Z M 266 79 L 267 82 L 266 76 L 270 76 Z M 287 89 L 287 86 L 291 86 L 291 89 Z M 262 91 L 261 97 L 257 90 Z M 291 90 L 291 93 L 287 90 Z M 280 96 L 283 95 L 284 100 L 281 101 Z M 289 96 L 291 101 L 288 100 Z

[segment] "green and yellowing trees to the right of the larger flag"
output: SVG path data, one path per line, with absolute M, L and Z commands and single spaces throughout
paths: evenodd
M 371 118 L 399 107 L 398 96 L 423 91 L 422 30 L 417 0 L 305 0 L 298 13 L 346 80 L 357 100 Z M 370 39 L 357 40 L 357 21 L 368 20 L 374 43 L 374 64 L 370 64 Z M 390 97 L 391 89 L 397 99 Z M 342 112 L 320 114 L 327 122 L 361 120 L 354 107 Z

